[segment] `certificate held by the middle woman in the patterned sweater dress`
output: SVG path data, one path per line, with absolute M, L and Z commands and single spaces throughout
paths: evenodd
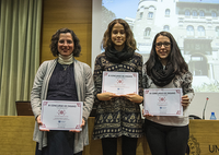
M 103 72 L 102 93 L 116 95 L 138 94 L 137 72 Z

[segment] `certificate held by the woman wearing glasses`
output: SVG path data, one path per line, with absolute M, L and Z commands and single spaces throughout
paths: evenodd
M 182 88 L 143 90 L 145 115 L 183 116 Z

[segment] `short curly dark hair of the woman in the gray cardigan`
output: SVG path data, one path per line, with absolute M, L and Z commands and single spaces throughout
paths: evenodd
M 73 31 L 69 29 L 69 28 L 60 28 L 58 29 L 53 36 L 51 36 L 51 44 L 50 44 L 50 50 L 54 55 L 54 57 L 58 56 L 58 40 L 59 40 L 59 35 L 60 34 L 66 34 L 66 33 L 70 33 L 73 39 L 73 44 L 74 44 L 74 48 L 73 48 L 73 57 L 79 57 L 80 52 L 81 52 L 81 45 L 80 45 L 80 40 L 77 37 L 77 35 L 74 34 Z

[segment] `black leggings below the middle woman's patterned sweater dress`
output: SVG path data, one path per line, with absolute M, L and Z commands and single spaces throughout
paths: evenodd
M 136 155 L 137 138 L 122 136 L 122 152 L 123 155 Z M 102 139 L 103 155 L 116 155 L 117 153 L 117 138 Z

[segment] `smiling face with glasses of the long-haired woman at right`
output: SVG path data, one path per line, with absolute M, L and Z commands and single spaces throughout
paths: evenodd
M 168 57 L 171 52 L 171 40 L 166 36 L 159 36 L 155 40 L 155 52 L 162 62 L 162 64 L 166 64 Z

